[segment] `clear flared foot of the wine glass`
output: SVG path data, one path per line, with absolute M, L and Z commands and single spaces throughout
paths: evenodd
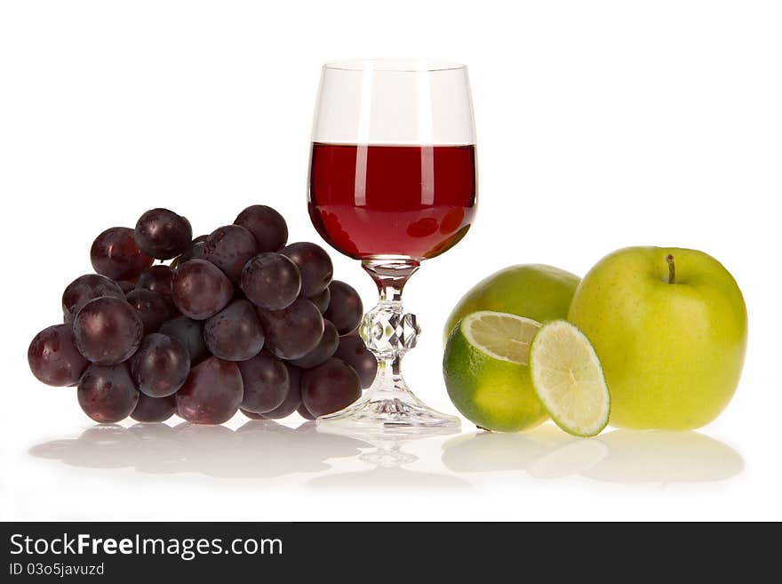
M 339 425 L 356 430 L 459 428 L 459 418 L 433 410 L 410 391 L 370 390 L 355 404 L 316 421 L 318 428 Z

